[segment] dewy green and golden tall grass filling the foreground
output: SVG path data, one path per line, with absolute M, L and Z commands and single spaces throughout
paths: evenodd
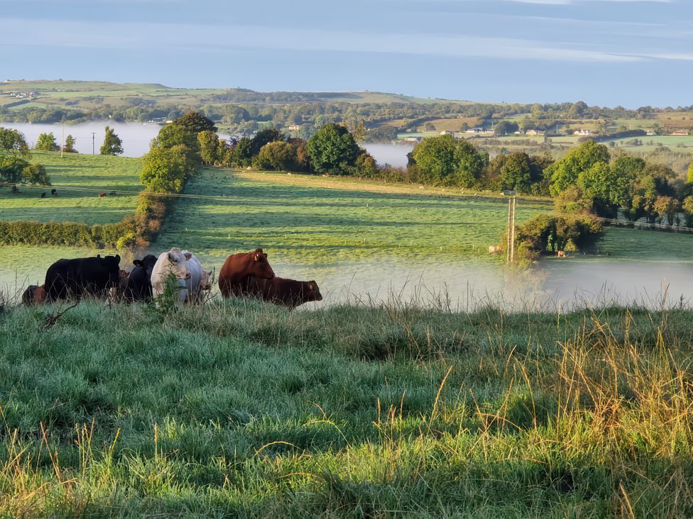
M 0 515 L 687 517 L 693 311 L 0 313 Z

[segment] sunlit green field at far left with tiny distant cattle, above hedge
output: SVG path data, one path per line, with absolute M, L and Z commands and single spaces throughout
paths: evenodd
M 92 224 L 116 223 L 132 214 L 142 189 L 137 158 L 32 152 L 31 162 L 43 164 L 58 196 L 50 187 L 21 187 L 19 194 L 0 189 L 0 218 L 6 221 L 71 221 Z M 117 196 L 99 198 L 101 192 Z M 40 198 L 42 192 L 47 198 Z

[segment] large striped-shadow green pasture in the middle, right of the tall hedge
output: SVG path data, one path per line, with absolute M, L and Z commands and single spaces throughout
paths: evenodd
M 185 193 L 213 198 L 177 201 L 158 246 L 206 251 L 219 259 L 230 250 L 264 247 L 305 263 L 378 257 L 415 262 L 491 258 L 489 245 L 502 239 L 507 201 L 501 196 L 381 188 L 307 175 L 203 169 Z M 518 222 L 550 207 L 546 201 L 522 201 Z

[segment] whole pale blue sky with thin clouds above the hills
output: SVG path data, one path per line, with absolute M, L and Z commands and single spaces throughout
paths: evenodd
M 0 79 L 693 104 L 693 0 L 0 0 Z

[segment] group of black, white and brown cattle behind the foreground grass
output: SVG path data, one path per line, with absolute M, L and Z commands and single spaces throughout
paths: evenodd
M 120 268 L 120 256 L 58 259 L 48 267 L 43 285 L 31 285 L 22 302 L 33 306 L 44 302 L 79 299 L 83 296 L 114 298 L 116 301 L 158 301 L 173 289 L 176 303 L 202 303 L 212 289 L 212 271 L 187 250 L 173 247 L 158 257 L 146 255 L 133 261 L 131 272 Z M 224 298 L 255 297 L 294 308 L 308 301 L 322 301 L 315 281 L 275 277 L 262 249 L 227 257 L 219 272 L 219 290 Z

